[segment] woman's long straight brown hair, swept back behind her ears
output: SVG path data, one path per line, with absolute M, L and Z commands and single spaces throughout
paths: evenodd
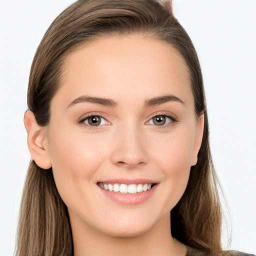
M 195 115 L 204 113 L 198 161 L 187 187 L 171 210 L 171 234 L 183 244 L 205 252 L 221 252 L 221 207 L 212 165 L 202 74 L 194 46 L 177 19 L 157 0 L 78 0 L 50 25 L 35 53 L 27 105 L 39 125 L 49 122 L 66 55 L 100 36 L 141 34 L 172 45 L 183 57 L 194 97 Z M 66 205 L 56 189 L 52 170 L 29 164 L 17 229 L 16 255 L 71 255 L 72 234 Z

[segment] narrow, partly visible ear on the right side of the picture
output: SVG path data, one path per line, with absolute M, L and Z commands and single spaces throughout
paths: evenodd
M 191 158 L 191 166 L 197 163 L 197 154 L 201 147 L 202 143 L 202 135 L 203 135 L 203 126 L 204 126 L 204 114 L 202 113 L 199 116 L 199 120 L 195 130 L 194 144 L 193 144 L 193 152 Z

